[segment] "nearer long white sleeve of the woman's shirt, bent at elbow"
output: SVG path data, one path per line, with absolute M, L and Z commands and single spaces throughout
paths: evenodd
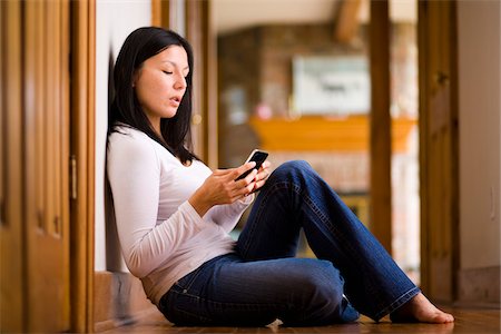
M 116 134 L 108 149 L 108 177 L 114 196 L 118 237 L 127 267 L 141 278 L 157 268 L 185 240 L 204 228 L 188 202 L 157 225 L 160 161 L 153 143 Z

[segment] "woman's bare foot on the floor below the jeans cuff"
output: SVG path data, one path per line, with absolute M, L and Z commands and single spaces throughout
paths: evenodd
M 454 322 L 451 314 L 436 308 L 422 293 L 390 314 L 390 318 L 394 323 L 445 324 Z

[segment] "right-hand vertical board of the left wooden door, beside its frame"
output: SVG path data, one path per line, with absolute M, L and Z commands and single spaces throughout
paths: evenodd
M 59 332 L 69 330 L 68 8 L 27 1 L 24 16 L 28 331 Z

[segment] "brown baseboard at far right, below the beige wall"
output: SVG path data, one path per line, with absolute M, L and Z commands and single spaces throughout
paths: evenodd
M 461 269 L 458 276 L 458 304 L 500 307 L 500 266 Z

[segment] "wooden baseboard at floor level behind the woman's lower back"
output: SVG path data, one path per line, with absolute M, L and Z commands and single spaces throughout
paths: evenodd
M 95 332 L 139 322 L 158 314 L 140 281 L 129 273 L 96 272 L 94 291 Z

